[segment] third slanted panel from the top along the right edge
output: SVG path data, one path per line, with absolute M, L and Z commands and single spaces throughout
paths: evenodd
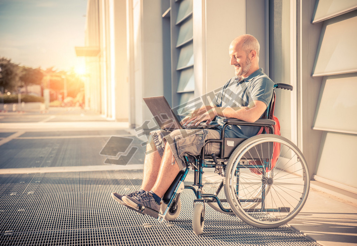
M 357 74 L 326 79 L 321 87 L 314 129 L 357 134 Z

